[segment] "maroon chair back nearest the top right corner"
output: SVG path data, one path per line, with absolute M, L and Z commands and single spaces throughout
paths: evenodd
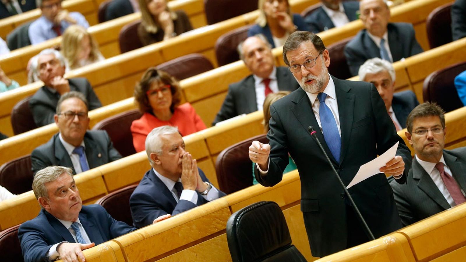
M 425 21 L 430 48 L 436 48 L 452 41 L 452 4 L 435 8 Z

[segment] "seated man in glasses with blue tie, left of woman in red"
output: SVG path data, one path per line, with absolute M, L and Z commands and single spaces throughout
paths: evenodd
M 86 98 L 71 91 L 60 97 L 54 116 L 59 132 L 31 154 L 34 174 L 50 165 L 73 169 L 73 174 L 121 159 L 106 131 L 88 130 Z

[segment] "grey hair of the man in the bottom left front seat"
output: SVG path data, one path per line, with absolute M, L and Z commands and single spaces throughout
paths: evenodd
M 39 199 L 43 197 L 49 199 L 47 186 L 45 184 L 55 181 L 63 173 L 69 174 L 73 181 L 75 180 L 73 178 L 73 170 L 69 167 L 52 165 L 39 170 L 32 181 L 32 191 L 34 192 L 35 198 Z

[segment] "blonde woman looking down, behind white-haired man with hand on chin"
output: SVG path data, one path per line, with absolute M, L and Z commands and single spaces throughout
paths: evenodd
M 71 25 L 65 30 L 61 48 L 69 69 L 80 68 L 105 59 L 99 51 L 96 40 L 79 25 Z

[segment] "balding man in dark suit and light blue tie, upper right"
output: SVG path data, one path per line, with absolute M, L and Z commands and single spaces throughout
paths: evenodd
M 359 12 L 365 29 L 359 31 L 344 50 L 353 76 L 370 58 L 396 62 L 423 52 L 411 24 L 388 22 L 390 8 L 387 0 L 361 0 Z

